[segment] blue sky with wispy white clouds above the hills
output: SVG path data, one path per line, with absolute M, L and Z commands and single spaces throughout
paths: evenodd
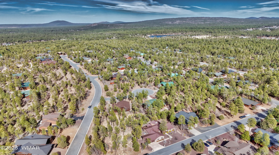
M 0 24 L 279 17 L 279 0 L 0 0 Z

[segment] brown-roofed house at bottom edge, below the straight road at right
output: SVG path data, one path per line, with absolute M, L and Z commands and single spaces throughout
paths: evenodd
M 248 143 L 228 141 L 228 143 L 220 147 L 217 152 L 223 155 L 251 155 L 256 152 L 256 148 Z

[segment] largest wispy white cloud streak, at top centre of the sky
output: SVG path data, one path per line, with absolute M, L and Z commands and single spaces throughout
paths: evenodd
M 180 6 L 179 7 L 170 6 L 152 0 L 150 1 L 93 0 L 93 1 L 107 3 L 107 5 L 97 4 L 107 9 L 126 10 L 126 11 L 139 12 L 139 13 L 166 13 L 166 14 L 176 14 L 176 15 L 195 13 L 193 11 L 186 10 Z

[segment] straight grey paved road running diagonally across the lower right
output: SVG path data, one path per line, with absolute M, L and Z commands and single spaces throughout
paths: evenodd
M 160 154 L 160 155 L 170 155 L 170 154 L 176 153 L 176 152 L 184 149 L 184 145 L 186 145 L 188 143 L 192 145 L 195 141 L 198 141 L 199 139 L 207 140 L 207 139 L 209 139 L 209 136 L 215 137 L 215 136 L 224 134 L 224 133 L 232 130 L 232 126 L 237 127 L 241 123 L 245 124 L 247 122 L 248 118 L 251 118 L 251 117 L 256 118 L 256 119 L 265 118 L 266 115 L 267 115 L 266 113 L 267 112 L 262 112 L 262 113 L 259 113 L 257 115 L 252 115 L 250 117 L 243 118 L 243 119 L 241 119 L 241 120 L 239 120 L 237 122 L 232 122 L 230 124 L 218 127 L 216 129 L 213 129 L 213 130 L 210 130 L 210 131 L 206 131 L 206 132 L 204 132 L 204 133 L 202 133 L 200 135 L 193 136 L 191 138 L 185 139 L 183 141 L 180 141 L 178 143 L 172 144 L 172 145 L 170 145 L 168 147 L 162 148 L 162 149 L 160 149 L 158 151 L 155 151 L 155 152 L 152 152 L 152 153 L 149 153 L 149 154 L 150 155 L 158 155 L 158 154 Z

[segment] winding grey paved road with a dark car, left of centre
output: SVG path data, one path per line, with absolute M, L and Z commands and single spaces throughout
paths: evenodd
M 69 59 L 66 58 L 67 55 L 61 55 L 61 58 L 65 61 L 68 61 L 70 65 L 75 68 L 79 69 L 78 64 L 71 62 Z M 95 80 L 97 77 L 92 77 L 89 75 L 85 75 L 86 78 L 90 78 L 90 81 L 95 87 L 95 95 L 93 97 L 93 100 L 91 101 L 92 108 L 87 108 L 87 112 L 82 120 L 81 125 L 78 128 L 78 132 L 76 133 L 75 137 L 73 138 L 72 143 L 70 144 L 66 155 L 78 155 L 80 148 L 82 147 L 83 140 L 85 138 L 85 135 L 87 134 L 87 131 L 90 127 L 90 124 L 93 119 L 93 107 L 96 107 L 98 103 L 100 102 L 100 98 L 102 95 L 102 89 L 99 83 Z M 72 138 L 72 137 L 71 137 Z

